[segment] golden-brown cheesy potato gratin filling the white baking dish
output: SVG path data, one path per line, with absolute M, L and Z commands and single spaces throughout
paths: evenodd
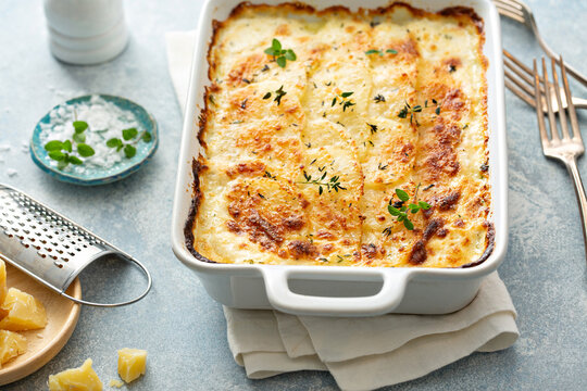
M 274 38 L 296 53 L 285 67 L 264 52 Z M 189 250 L 222 263 L 482 262 L 494 236 L 483 43 L 466 8 L 241 3 L 215 21 Z M 388 212 L 408 204 L 396 189 L 432 205 L 410 214 L 412 230 Z

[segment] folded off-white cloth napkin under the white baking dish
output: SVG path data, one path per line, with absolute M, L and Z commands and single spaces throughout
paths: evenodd
M 170 73 L 185 111 L 193 31 L 167 33 Z M 224 308 L 228 344 L 251 379 L 328 370 L 344 390 L 370 390 L 424 376 L 473 352 L 511 346 L 515 310 L 497 272 L 466 307 L 448 315 L 371 318 L 294 316 Z

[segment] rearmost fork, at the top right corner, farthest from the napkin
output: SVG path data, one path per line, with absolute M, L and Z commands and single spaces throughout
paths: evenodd
M 521 0 L 494 0 L 494 4 L 496 4 L 496 8 L 501 15 L 520 22 L 526 27 L 530 28 L 534 33 L 534 36 L 538 40 L 538 43 L 540 43 L 540 47 L 542 47 L 542 50 L 548 54 L 549 58 L 555 59 L 558 61 L 558 54 L 552 51 L 552 49 L 550 49 L 550 47 L 540 36 L 540 33 L 538 31 L 538 25 L 536 24 L 534 14 L 532 13 L 532 10 L 528 5 L 526 5 Z M 573 66 L 571 66 L 571 64 L 566 62 L 562 64 L 564 64 L 564 67 L 566 67 L 566 71 L 571 74 L 571 76 L 573 76 L 580 84 L 587 87 L 587 77 L 585 77 L 585 75 L 583 75 L 580 72 L 575 70 Z

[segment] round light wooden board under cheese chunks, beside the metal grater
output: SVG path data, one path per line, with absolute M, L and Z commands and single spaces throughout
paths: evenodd
M 65 299 L 7 262 L 8 287 L 17 288 L 37 298 L 47 311 L 47 326 L 40 330 L 18 331 L 26 337 L 26 353 L 8 362 L 0 368 L 0 386 L 20 380 L 53 358 L 77 325 L 80 305 Z M 82 299 L 82 285 L 75 279 L 67 294 Z

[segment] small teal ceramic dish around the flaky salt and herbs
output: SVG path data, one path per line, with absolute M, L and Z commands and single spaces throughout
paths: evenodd
M 70 167 L 66 169 L 59 169 L 57 162 L 49 157 L 49 152 L 45 150 L 45 143 L 48 140 L 46 135 L 42 135 L 42 133 L 46 131 L 43 128 L 47 128 L 47 126 L 51 124 L 51 114 L 54 114 L 54 112 L 59 110 L 63 111 L 63 108 L 67 105 L 77 106 L 79 104 L 88 103 L 92 97 L 95 97 L 95 99 L 96 97 L 99 97 L 105 102 L 114 104 L 123 112 L 134 115 L 134 118 L 138 125 L 137 129 L 139 129 L 139 131 L 145 130 L 150 133 L 151 139 L 148 142 L 142 140 L 140 142 L 136 142 L 134 144 L 136 148 L 136 154 L 133 157 L 124 157 L 110 167 L 84 164 L 83 169 L 79 168 L 82 166 L 74 165 L 70 165 Z M 89 126 L 91 127 L 91 124 L 89 124 Z M 158 147 L 159 129 L 157 122 L 153 116 L 150 115 L 141 105 L 121 97 L 92 94 L 70 99 L 68 101 L 54 106 L 49 113 L 47 113 L 37 123 L 37 126 L 35 126 L 33 138 L 30 140 L 30 156 L 39 168 L 55 179 L 74 185 L 96 186 L 121 180 L 136 173 L 151 160 Z

